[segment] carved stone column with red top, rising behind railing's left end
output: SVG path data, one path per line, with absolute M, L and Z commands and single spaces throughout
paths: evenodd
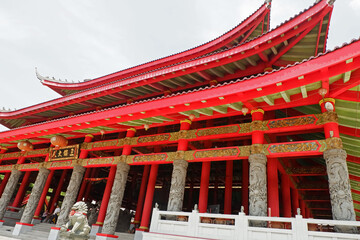
M 188 119 L 181 121 L 180 132 L 186 134 L 186 131 L 190 129 L 190 125 L 191 121 Z M 181 211 L 183 207 L 186 173 L 189 165 L 188 162 L 184 160 L 183 153 L 187 150 L 187 147 L 188 141 L 184 138 L 179 139 L 177 159 L 173 162 L 168 211 Z

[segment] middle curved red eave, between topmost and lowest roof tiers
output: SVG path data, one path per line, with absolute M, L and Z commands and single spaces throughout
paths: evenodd
M 279 26 L 275 30 L 267 34 L 264 34 L 256 39 L 253 39 L 252 41 L 245 42 L 242 45 L 234 47 L 230 50 L 210 54 L 202 58 L 198 58 L 184 63 L 179 63 L 178 65 L 145 73 L 143 75 L 139 75 L 136 77 L 122 79 L 121 81 L 110 83 L 98 88 L 85 90 L 79 93 L 75 93 L 69 96 L 44 102 L 28 108 L 20 109 L 13 112 L 0 113 L 0 118 L 19 120 L 27 117 L 27 118 L 35 118 L 34 121 L 36 121 L 36 118 L 39 118 L 38 115 L 45 114 L 44 112 L 49 112 L 49 111 L 51 111 L 50 112 L 51 115 L 53 115 L 54 114 L 53 112 L 56 111 L 62 112 L 63 116 L 66 116 L 66 114 L 76 114 L 77 110 L 75 109 L 74 106 L 78 106 L 79 109 L 86 109 L 86 107 L 88 109 L 91 109 L 91 107 L 94 109 L 94 106 L 96 106 L 93 103 L 94 101 L 95 104 L 98 105 L 102 105 L 102 101 L 110 101 L 120 104 L 121 102 L 115 101 L 114 99 L 110 99 L 110 98 L 115 97 L 118 100 L 120 98 L 124 100 L 124 92 L 126 91 L 127 91 L 126 94 L 128 94 L 128 96 L 130 96 L 129 98 L 131 98 L 133 93 L 129 93 L 129 91 L 133 92 L 135 89 L 139 89 L 139 88 L 146 88 L 146 89 L 141 89 L 140 92 L 146 90 L 149 91 L 149 87 L 152 86 L 151 84 L 164 83 L 169 79 L 171 80 L 176 77 L 180 78 L 184 75 L 189 76 L 189 74 L 191 75 L 194 73 L 199 74 L 201 72 L 207 71 L 208 69 L 210 71 L 211 69 L 215 69 L 215 68 L 222 68 L 221 71 L 226 72 L 228 71 L 228 69 L 223 68 L 224 66 L 227 66 L 226 64 L 236 65 L 235 63 L 238 61 L 246 61 L 248 62 L 247 63 L 248 66 L 250 66 L 251 63 L 254 64 L 254 62 L 256 65 L 257 64 L 256 61 L 260 58 L 259 54 L 265 51 L 269 51 L 269 49 L 277 46 L 278 44 L 283 43 L 284 40 L 296 36 L 297 34 L 303 32 L 304 29 L 308 28 L 308 24 L 316 25 L 316 23 L 320 21 L 322 17 L 328 14 L 331 10 L 332 10 L 332 6 L 329 6 L 325 1 L 322 1 L 314 5 L 313 7 L 309 8 L 307 11 L 304 11 L 303 13 L 294 17 L 290 21 Z M 309 19 L 310 17 L 312 18 L 312 21 L 307 21 L 307 19 Z M 257 66 L 250 66 L 251 68 L 246 69 L 245 75 L 243 72 L 240 71 L 239 74 L 230 74 L 220 80 L 222 81 L 231 80 L 234 78 L 240 78 L 252 74 L 257 74 L 259 72 L 263 72 L 264 66 L 265 63 L 262 62 Z M 203 82 L 199 84 L 204 85 Z M 201 86 L 199 84 L 191 85 L 191 87 Z M 123 95 L 119 96 L 119 94 L 123 94 Z M 127 96 L 125 96 L 125 100 L 126 97 Z M 96 101 L 97 98 L 103 98 L 103 100 L 97 102 Z M 61 114 L 58 115 L 61 116 Z M 44 121 L 44 119 L 39 121 Z M 2 124 L 4 124 L 3 121 Z M 19 124 L 11 124 L 11 125 L 12 125 L 11 128 L 21 126 Z M 27 123 L 22 123 L 22 125 L 27 125 Z

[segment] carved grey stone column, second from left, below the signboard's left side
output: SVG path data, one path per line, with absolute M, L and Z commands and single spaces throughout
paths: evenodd
M 31 220 L 34 216 L 36 207 L 39 203 L 39 200 L 40 200 L 40 197 L 41 197 L 41 194 L 44 189 L 45 182 L 46 182 L 46 179 L 47 179 L 47 176 L 49 175 L 49 173 L 50 173 L 50 170 L 48 170 L 44 167 L 41 167 L 39 169 L 39 173 L 36 177 L 36 180 L 35 180 L 34 186 L 32 188 L 28 203 L 26 204 L 24 213 L 21 217 L 21 220 L 20 220 L 21 223 L 31 223 Z

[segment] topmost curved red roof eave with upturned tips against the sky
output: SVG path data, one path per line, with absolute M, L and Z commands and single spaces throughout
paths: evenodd
M 271 4 L 268 3 L 263 4 L 257 11 L 232 30 L 195 48 L 81 83 L 60 82 L 54 81 L 51 78 L 43 79 L 41 80 L 41 83 L 64 96 L 79 90 L 106 84 L 120 78 L 137 75 L 151 69 L 171 65 L 180 60 L 186 61 L 221 49 L 231 48 L 234 45 L 241 44 L 242 42 L 257 37 L 269 30 L 270 6 Z

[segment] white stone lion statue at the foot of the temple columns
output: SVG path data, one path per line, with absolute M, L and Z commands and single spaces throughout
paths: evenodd
M 87 205 L 84 202 L 75 203 L 69 214 L 69 221 L 61 226 L 59 240 L 89 239 L 90 226 L 86 217 Z

